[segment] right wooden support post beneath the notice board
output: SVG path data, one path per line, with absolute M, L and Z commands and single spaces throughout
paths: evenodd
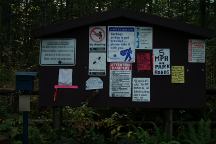
M 165 133 L 171 140 L 173 136 L 173 110 L 165 110 Z

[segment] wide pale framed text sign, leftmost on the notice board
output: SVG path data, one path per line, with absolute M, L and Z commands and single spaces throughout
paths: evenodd
M 46 39 L 40 46 L 41 65 L 75 65 L 75 39 Z

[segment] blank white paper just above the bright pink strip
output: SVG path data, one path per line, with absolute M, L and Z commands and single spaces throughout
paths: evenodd
M 72 85 L 72 69 L 59 69 L 59 85 Z

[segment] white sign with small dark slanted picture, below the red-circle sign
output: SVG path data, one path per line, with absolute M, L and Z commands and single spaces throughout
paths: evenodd
M 90 76 L 106 76 L 106 53 L 89 53 L 89 72 Z

